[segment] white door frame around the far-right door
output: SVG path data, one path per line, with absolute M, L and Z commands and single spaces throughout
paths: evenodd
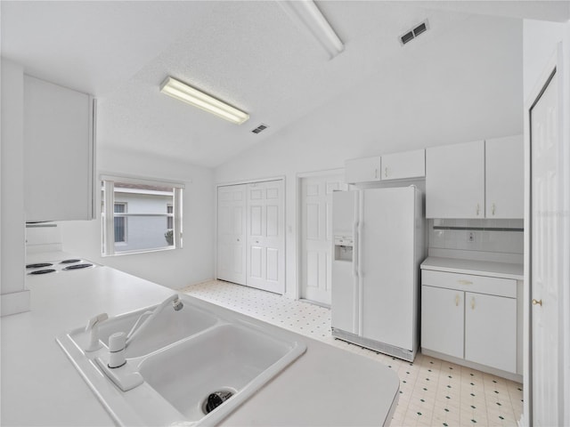
M 537 80 L 533 91 L 529 94 L 527 100 L 525 100 L 525 110 L 524 110 L 524 136 L 525 136 L 525 231 L 524 231 L 524 245 L 525 245 L 525 272 L 524 272 L 524 292 L 523 292 L 523 416 L 525 425 L 533 426 L 533 353 L 532 353 L 532 158 L 531 158 L 531 122 L 530 122 L 530 111 L 533 109 L 536 101 L 540 99 L 542 92 L 550 83 L 550 78 L 554 72 L 558 75 L 558 92 L 561 93 L 561 100 L 559 100 L 560 108 L 560 137 L 562 141 L 561 149 L 561 174 L 562 174 L 562 186 L 559 193 L 560 206 L 562 206 L 562 224 L 561 229 L 563 232 L 562 237 L 562 259 L 570 259 L 570 196 L 568 192 L 570 191 L 570 118 L 568 117 L 568 112 L 570 112 L 570 95 L 568 90 L 570 90 L 570 78 L 566 76 L 568 69 L 570 69 L 570 54 L 564 53 L 562 43 L 558 43 L 556 51 L 550 58 L 547 67 L 544 68 L 541 77 Z M 570 280 L 570 266 L 566 265 L 563 269 L 563 274 L 560 280 L 560 292 L 559 296 L 561 303 L 559 305 L 559 327 L 561 334 L 559 336 L 565 337 L 565 340 L 559 342 L 559 355 L 561 360 L 570 357 L 570 290 L 567 289 L 568 286 L 563 286 L 562 284 L 569 283 Z M 566 287 L 566 289 L 565 289 Z M 567 364 L 566 364 L 567 365 Z M 562 393 L 563 397 L 567 399 L 570 396 L 570 368 L 565 367 L 564 372 L 558 373 L 558 377 L 562 383 Z M 567 408 L 561 407 L 560 420 L 564 423 L 570 421 L 570 411 Z

